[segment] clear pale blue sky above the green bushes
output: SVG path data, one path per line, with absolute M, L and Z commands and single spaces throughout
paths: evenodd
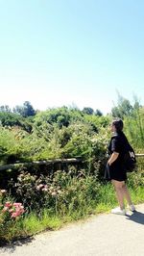
M 144 104 L 144 1 L 0 0 L 0 105 Z

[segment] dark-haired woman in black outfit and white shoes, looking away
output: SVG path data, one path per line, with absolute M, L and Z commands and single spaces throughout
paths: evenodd
M 127 180 L 127 172 L 123 165 L 124 148 L 128 142 L 125 134 L 123 133 L 123 121 L 116 118 L 110 125 L 110 130 L 113 133 L 108 145 L 110 157 L 108 158 L 107 173 L 108 179 L 114 186 L 119 207 L 112 209 L 112 214 L 126 215 L 124 198 L 127 199 L 129 208 L 133 212 L 135 207 L 132 204 L 130 193 L 125 184 Z

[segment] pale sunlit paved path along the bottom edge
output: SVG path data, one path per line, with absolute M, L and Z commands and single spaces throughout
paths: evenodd
M 103 214 L 0 249 L 0 256 L 144 256 L 144 204 L 127 216 Z

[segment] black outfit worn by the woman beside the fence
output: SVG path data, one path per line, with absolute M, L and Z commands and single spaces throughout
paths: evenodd
M 127 172 L 123 163 L 125 145 L 127 143 L 128 140 L 123 132 L 116 133 L 111 137 L 108 145 L 108 154 L 110 156 L 113 152 L 117 152 L 119 155 L 118 158 L 111 164 L 111 166 L 107 165 L 106 167 L 105 178 L 107 180 L 127 180 Z

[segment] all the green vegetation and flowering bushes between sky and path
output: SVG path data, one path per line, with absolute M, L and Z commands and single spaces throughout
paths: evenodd
M 111 114 L 85 107 L 35 111 L 30 102 L 0 107 L 0 167 L 21 162 L 81 157 L 79 166 L 18 166 L 0 170 L 0 240 L 55 229 L 62 223 L 108 211 L 116 204 L 103 176 L 108 125 L 124 119 L 136 152 L 144 151 L 144 107 L 119 97 Z M 129 175 L 134 203 L 144 201 L 143 160 Z M 18 203 L 18 204 L 17 204 Z

